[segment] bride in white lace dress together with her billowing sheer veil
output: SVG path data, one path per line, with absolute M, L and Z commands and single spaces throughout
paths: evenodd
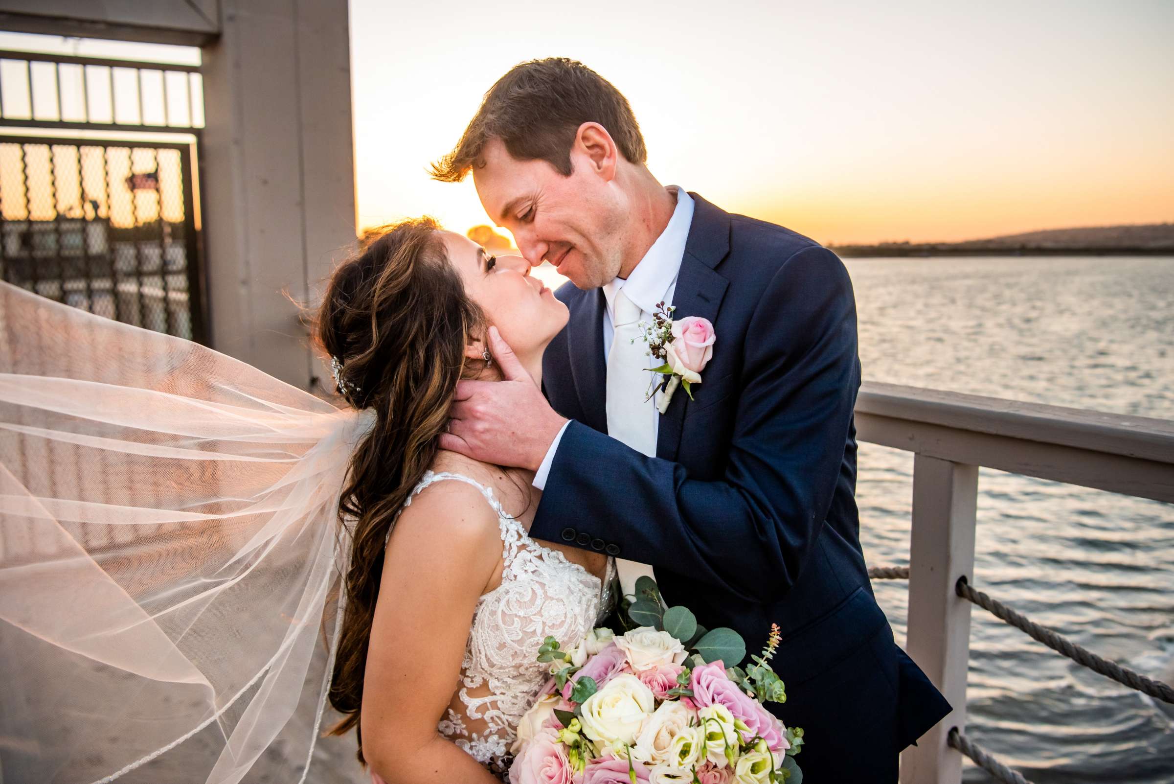
M 541 384 L 566 320 L 524 259 L 387 227 L 316 319 L 339 408 L 0 284 L 0 777 L 308 768 L 329 696 L 376 782 L 501 778 L 539 646 L 607 614 L 614 563 L 532 540 L 531 477 L 438 437 L 499 378 L 490 329 Z

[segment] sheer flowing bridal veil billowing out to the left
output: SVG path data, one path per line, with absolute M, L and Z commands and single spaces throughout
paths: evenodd
M 0 284 L 0 780 L 223 784 L 275 744 L 308 765 L 370 425 Z

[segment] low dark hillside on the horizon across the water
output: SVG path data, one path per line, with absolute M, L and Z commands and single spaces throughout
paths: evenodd
M 1050 229 L 966 242 L 829 245 L 841 256 L 1174 255 L 1174 223 Z

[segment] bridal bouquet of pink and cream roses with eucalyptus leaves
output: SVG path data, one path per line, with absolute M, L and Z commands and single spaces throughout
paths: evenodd
M 641 577 L 622 634 L 594 629 L 572 650 L 547 637 L 552 678 L 518 728 L 512 784 L 799 784 L 803 730 L 783 726 L 763 702 L 783 702 L 767 647 L 745 670 L 731 629 L 708 631 L 683 607 L 661 611 Z

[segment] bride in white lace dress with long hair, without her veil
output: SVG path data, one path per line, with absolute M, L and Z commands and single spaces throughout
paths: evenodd
M 457 381 L 495 377 L 490 325 L 541 384 L 566 322 L 525 259 L 427 221 L 391 229 L 330 283 L 318 338 L 348 401 L 377 412 L 343 491 L 357 523 L 330 699 L 377 780 L 505 772 L 548 676 L 542 640 L 574 644 L 607 609 L 610 559 L 527 536 L 532 475 L 437 447 Z

